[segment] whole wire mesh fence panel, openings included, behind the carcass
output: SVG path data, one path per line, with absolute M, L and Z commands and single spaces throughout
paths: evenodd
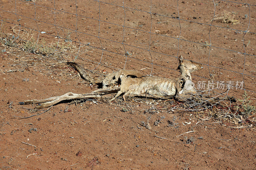
M 162 77 L 179 75 L 177 59 L 182 55 L 204 66 L 192 75 L 198 90 L 255 94 L 253 1 L 4 0 L 1 4 L 0 29 L 7 36 L 2 38 L 6 46 L 58 62 L 76 61 L 97 73 L 136 69 Z

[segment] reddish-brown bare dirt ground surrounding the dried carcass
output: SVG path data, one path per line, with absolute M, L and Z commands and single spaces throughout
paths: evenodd
M 231 112 L 225 103 L 173 111 L 184 104 L 143 98 L 68 101 L 41 110 L 18 102 L 97 89 L 64 61 L 88 70 L 100 62 L 94 71 L 103 75 L 125 64 L 171 78 L 179 75 L 182 55 L 204 65 L 195 83 L 244 80 L 255 106 L 256 6 L 214 1 L 212 22 L 212 1 L 178 1 L 179 14 L 177 1 L 166 0 L 124 1 L 126 8 L 123 1 L 35 2 L 0 2 L 0 169 L 255 169 L 255 113 L 241 117 L 241 102 Z M 243 93 L 229 91 L 238 99 Z M 183 134 L 188 131 L 194 132 Z

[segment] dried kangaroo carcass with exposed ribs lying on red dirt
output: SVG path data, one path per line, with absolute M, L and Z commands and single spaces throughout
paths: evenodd
M 100 89 L 89 94 L 76 94 L 68 92 L 61 96 L 51 97 L 45 100 L 26 100 L 20 104 L 37 104 L 37 108 L 49 107 L 62 100 L 72 99 L 99 99 L 105 94 L 116 93 L 115 97 L 110 101 L 115 100 L 120 95 L 125 100 L 126 97 L 152 97 L 158 99 L 171 99 L 185 101 L 195 98 L 204 100 L 209 103 L 216 103 L 218 100 L 232 100 L 233 97 L 222 97 L 218 99 L 208 98 L 197 93 L 192 82 L 191 72 L 201 70 L 203 67 L 199 63 L 194 63 L 184 60 L 182 56 L 179 58 L 180 76 L 178 78 L 162 78 L 156 76 L 143 76 L 140 71 L 134 70 L 119 70 L 109 73 L 106 77 L 92 77 L 82 66 L 77 63 L 67 62 L 68 65 L 74 67 L 82 78 L 85 80 L 97 83 Z

